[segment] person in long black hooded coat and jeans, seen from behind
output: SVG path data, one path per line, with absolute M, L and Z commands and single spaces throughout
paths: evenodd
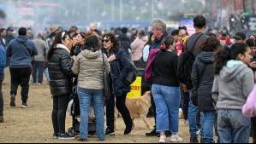
M 220 42 L 216 37 L 208 37 L 199 45 L 201 53 L 193 63 L 191 79 L 193 89 L 198 89 L 198 108 L 201 118 L 201 130 L 205 143 L 214 143 L 213 126 L 216 121 L 216 112 L 211 100 L 211 89 L 214 81 L 213 54 L 219 48 Z

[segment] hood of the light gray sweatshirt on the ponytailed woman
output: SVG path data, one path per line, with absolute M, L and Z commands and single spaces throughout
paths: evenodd
M 219 77 L 226 83 L 229 83 L 237 77 L 244 69 L 247 68 L 247 65 L 239 60 L 229 60 L 226 66 L 223 66 L 223 69 L 219 73 Z

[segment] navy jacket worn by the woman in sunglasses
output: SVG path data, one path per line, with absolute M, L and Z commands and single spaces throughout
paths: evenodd
M 104 50 L 104 54 L 108 55 L 108 57 L 112 54 L 116 55 L 116 60 L 110 62 L 110 72 L 114 95 L 122 96 L 127 94 L 130 92 L 131 86 L 126 84 L 124 79 L 127 77 L 132 66 L 128 61 L 125 51 L 123 49 L 118 49 L 116 52 L 114 52 L 112 49 L 110 49 L 109 53 Z

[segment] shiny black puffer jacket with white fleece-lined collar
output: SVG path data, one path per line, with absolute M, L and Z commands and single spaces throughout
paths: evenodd
M 63 44 L 57 44 L 48 60 L 51 95 L 69 95 L 72 89 L 73 62 L 69 50 Z

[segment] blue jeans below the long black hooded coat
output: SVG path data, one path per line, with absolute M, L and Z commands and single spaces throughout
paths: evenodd
M 201 119 L 202 135 L 205 143 L 215 143 L 213 140 L 213 129 L 216 122 L 216 112 L 202 112 L 204 117 Z

